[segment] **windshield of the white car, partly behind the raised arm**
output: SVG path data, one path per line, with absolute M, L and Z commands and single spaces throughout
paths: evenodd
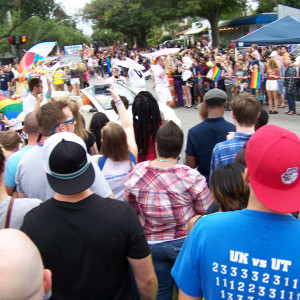
M 117 89 L 118 94 L 120 96 L 125 96 L 129 101 L 129 105 L 132 105 L 136 94 L 123 84 L 114 83 L 114 86 Z M 110 95 L 96 95 L 95 89 L 92 86 L 87 88 L 86 91 L 97 100 L 104 110 L 112 109 Z

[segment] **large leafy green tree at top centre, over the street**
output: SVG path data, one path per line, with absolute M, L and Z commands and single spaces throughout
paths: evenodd
M 93 0 L 86 5 L 84 14 L 98 28 L 121 32 L 145 48 L 146 36 L 154 25 L 176 18 L 178 3 L 175 0 Z

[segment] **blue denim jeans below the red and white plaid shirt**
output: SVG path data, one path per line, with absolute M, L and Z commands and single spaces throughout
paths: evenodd
M 171 269 L 181 250 L 185 238 L 180 240 L 149 245 L 152 261 L 158 280 L 157 300 L 171 300 L 174 281 Z

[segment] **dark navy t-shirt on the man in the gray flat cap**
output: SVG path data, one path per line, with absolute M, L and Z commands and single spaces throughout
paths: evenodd
M 226 140 L 229 131 L 235 131 L 235 125 L 225 121 L 223 117 L 206 118 L 188 132 L 185 153 L 196 157 L 198 171 L 209 182 L 211 154 L 214 146 Z

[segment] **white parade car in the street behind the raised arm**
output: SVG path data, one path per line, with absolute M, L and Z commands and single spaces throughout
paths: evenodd
M 131 108 L 136 93 L 130 87 L 120 83 L 114 83 L 114 86 L 120 96 L 125 96 L 128 99 L 129 101 L 128 112 L 132 115 Z M 110 95 L 98 94 L 97 85 L 82 89 L 80 90 L 80 92 L 90 100 L 90 104 L 82 105 L 80 107 L 80 112 L 84 117 L 86 128 L 89 128 L 93 114 L 96 112 L 103 112 L 107 115 L 110 121 L 118 122 L 119 116 L 115 113 L 115 111 L 111 107 Z M 166 121 L 172 120 L 178 126 L 181 126 L 181 122 L 176 116 L 172 108 L 161 103 L 158 103 L 158 105 L 163 120 Z

